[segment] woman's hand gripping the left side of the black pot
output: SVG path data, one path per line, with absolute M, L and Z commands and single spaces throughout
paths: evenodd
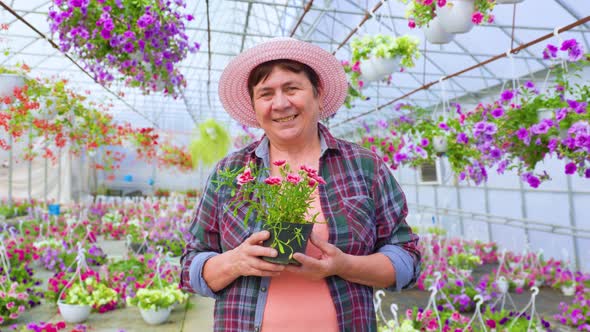
M 228 263 L 236 277 L 258 276 L 275 277 L 284 269 L 284 265 L 264 261 L 260 256 L 275 257 L 276 249 L 263 247 L 262 242 L 270 237 L 268 231 L 256 232 L 235 249 L 227 252 Z

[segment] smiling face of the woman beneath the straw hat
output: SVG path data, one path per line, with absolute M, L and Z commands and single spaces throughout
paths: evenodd
M 253 88 L 256 120 L 271 142 L 301 142 L 317 135 L 320 96 L 305 73 L 274 67 Z

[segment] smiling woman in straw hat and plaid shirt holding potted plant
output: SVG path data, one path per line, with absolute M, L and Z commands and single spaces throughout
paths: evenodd
M 181 287 L 216 299 L 216 331 L 375 331 L 373 287 L 400 290 L 418 277 L 418 237 L 388 166 L 319 123 L 346 94 L 338 60 L 294 39 L 255 46 L 221 75 L 226 111 L 265 135 L 218 163 L 181 259 Z M 277 255 L 261 245 L 269 233 L 244 227 L 213 184 L 218 170 L 248 162 L 278 175 L 278 160 L 318 169 L 326 181 L 310 211 L 325 222 L 314 224 L 305 254 L 294 255 L 301 266 L 262 260 Z

